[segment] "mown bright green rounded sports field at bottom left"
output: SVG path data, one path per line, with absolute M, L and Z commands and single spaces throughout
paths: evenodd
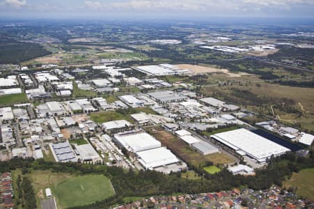
M 84 206 L 114 195 L 110 180 L 103 175 L 77 176 L 54 185 L 61 208 Z

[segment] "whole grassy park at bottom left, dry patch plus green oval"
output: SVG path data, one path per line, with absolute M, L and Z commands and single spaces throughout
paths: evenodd
M 20 169 L 13 171 L 14 178 L 19 173 Z M 69 173 L 32 170 L 26 176 L 32 181 L 38 206 L 40 206 L 40 199 L 45 198 L 47 187 L 52 189 L 58 208 L 83 206 L 114 195 L 110 180 L 103 175 L 75 176 Z

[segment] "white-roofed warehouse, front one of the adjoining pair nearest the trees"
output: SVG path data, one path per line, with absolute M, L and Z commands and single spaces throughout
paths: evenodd
M 178 158 L 166 148 L 154 148 L 136 153 L 138 161 L 145 169 L 166 166 L 179 162 Z

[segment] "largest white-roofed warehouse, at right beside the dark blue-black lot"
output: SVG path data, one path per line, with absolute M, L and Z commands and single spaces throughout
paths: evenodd
M 214 134 L 211 138 L 237 152 L 244 152 L 257 162 L 265 162 L 271 155 L 282 155 L 290 151 L 290 149 L 244 128 Z

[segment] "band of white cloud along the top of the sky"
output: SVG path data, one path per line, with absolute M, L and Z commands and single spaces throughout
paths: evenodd
M 293 6 L 314 5 L 313 0 L 127 0 L 106 2 L 84 1 L 84 5 L 93 10 L 174 10 L 211 12 L 224 10 L 290 10 Z

